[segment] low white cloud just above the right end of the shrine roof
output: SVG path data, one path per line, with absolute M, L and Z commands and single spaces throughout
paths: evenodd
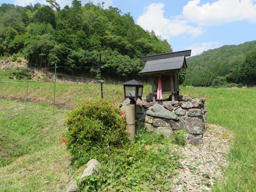
M 197 55 L 208 49 L 215 49 L 220 47 L 219 42 L 204 42 L 193 44 L 186 49 L 191 49 L 191 56 Z

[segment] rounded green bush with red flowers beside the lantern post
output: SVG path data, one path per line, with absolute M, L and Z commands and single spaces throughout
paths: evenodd
M 78 164 L 91 158 L 101 161 L 129 141 L 121 110 L 105 100 L 83 103 L 68 114 L 65 124 L 67 147 Z

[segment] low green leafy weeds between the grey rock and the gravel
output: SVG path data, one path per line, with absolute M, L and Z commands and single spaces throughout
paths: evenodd
M 157 144 L 157 143 L 155 143 Z M 170 191 L 174 171 L 182 165 L 178 154 L 170 155 L 170 143 L 145 149 L 140 142 L 129 142 L 101 162 L 98 176 L 84 178 L 83 191 Z

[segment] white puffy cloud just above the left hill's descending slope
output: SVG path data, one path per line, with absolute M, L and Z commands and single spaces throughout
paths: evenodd
M 156 35 L 169 39 L 180 34 L 190 34 L 196 37 L 203 33 L 201 27 L 188 25 L 182 16 L 167 19 L 163 15 L 163 3 L 153 3 L 144 8 L 144 13 L 137 19 L 137 24 L 146 30 L 154 30 Z

